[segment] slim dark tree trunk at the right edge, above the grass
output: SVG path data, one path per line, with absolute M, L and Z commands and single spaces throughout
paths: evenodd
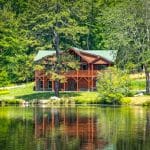
M 150 94 L 150 72 L 147 65 L 144 65 L 145 76 L 146 76 L 146 94 Z

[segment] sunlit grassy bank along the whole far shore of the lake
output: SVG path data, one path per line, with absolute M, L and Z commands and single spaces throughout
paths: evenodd
M 133 90 L 144 90 L 144 79 L 132 80 Z M 50 100 L 50 97 L 54 96 L 54 92 L 36 92 L 33 91 L 33 83 L 29 83 L 20 87 L 5 89 L 0 91 L 0 103 L 6 104 L 19 104 L 24 101 L 38 102 L 40 100 Z M 97 92 L 60 92 L 61 101 L 55 101 L 59 103 L 74 103 L 77 104 L 97 104 L 99 103 L 99 94 Z M 149 105 L 150 96 L 130 97 L 131 105 Z

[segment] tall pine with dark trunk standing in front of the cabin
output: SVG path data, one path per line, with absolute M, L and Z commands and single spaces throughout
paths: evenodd
M 78 34 L 87 33 L 87 28 L 78 24 L 76 1 L 39 0 L 29 2 L 26 24 L 32 34 L 41 43 L 41 47 L 52 48 L 56 51 L 55 73 L 60 74 L 60 50 L 66 45 L 72 45 Z M 79 11 L 79 9 L 78 9 Z M 79 14 L 79 13 L 77 13 Z M 55 79 L 55 94 L 58 96 L 59 79 Z

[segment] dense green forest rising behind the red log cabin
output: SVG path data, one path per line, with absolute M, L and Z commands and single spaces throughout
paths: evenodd
M 33 79 L 38 50 L 115 49 L 122 69 L 150 66 L 149 0 L 0 0 L 0 86 Z

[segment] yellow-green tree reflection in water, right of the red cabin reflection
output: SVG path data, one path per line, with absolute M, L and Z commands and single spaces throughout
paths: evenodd
M 146 113 L 142 107 L 104 108 L 99 114 L 99 136 L 108 140 L 113 149 L 133 150 L 150 147 L 150 122 L 145 120 Z M 144 138 L 145 126 L 147 135 Z

